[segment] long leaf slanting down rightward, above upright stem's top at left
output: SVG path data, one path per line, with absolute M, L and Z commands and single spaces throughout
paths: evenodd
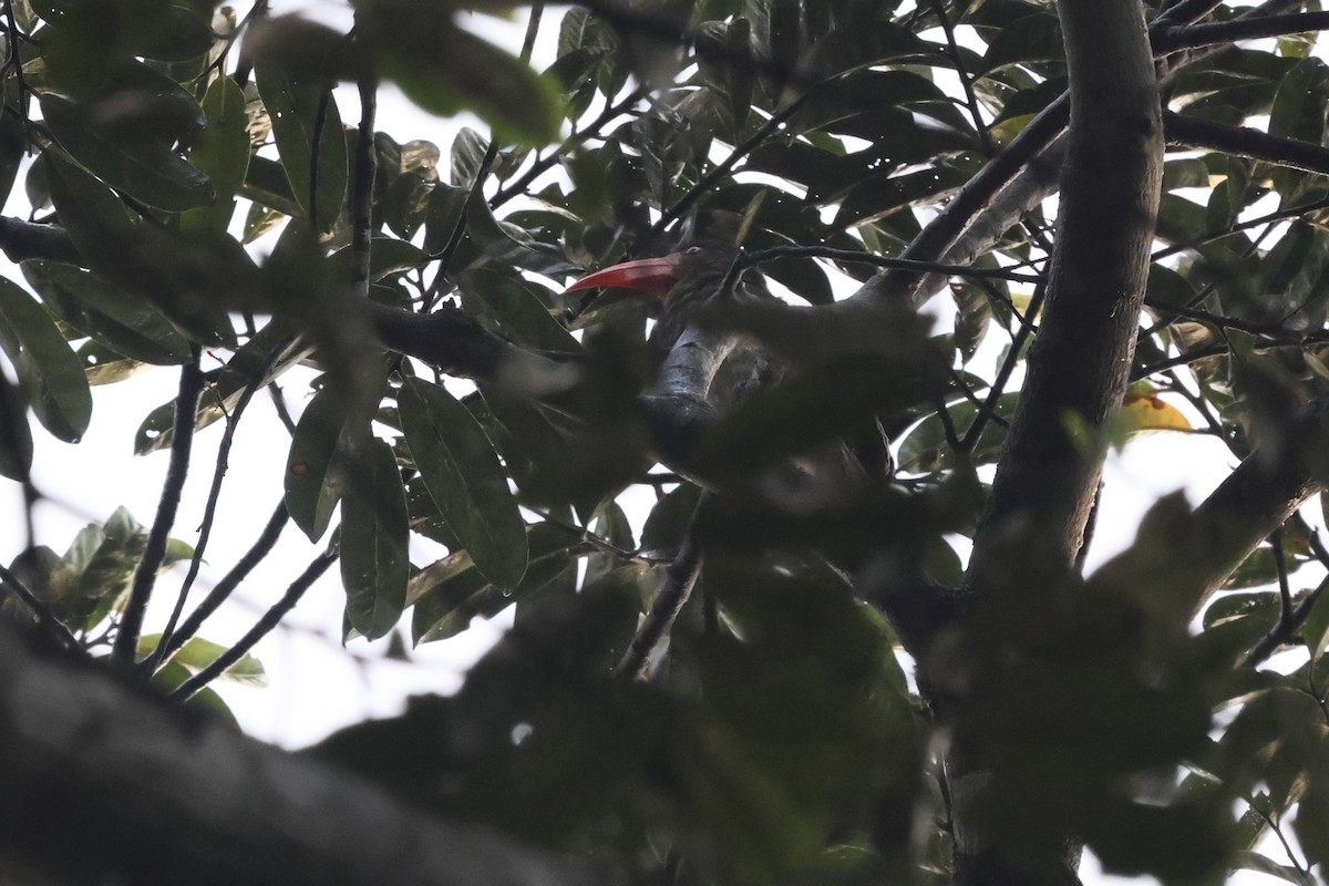
M 20 267 L 56 316 L 108 348 L 159 365 L 189 360 L 189 340 L 145 299 L 72 264 L 32 260 Z

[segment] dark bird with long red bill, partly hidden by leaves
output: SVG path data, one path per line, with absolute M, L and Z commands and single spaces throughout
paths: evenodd
M 776 300 L 760 274 L 736 274 L 723 288 L 739 247 L 699 242 L 658 258 L 635 259 L 590 274 L 569 291 L 625 287 L 661 303 L 650 345 L 659 359 L 655 379 L 642 395 L 647 426 L 659 460 L 704 487 L 738 486 L 795 513 L 843 506 L 881 476 L 889 474 L 888 441 L 868 418 L 868 442 L 851 446 L 832 438 L 808 452 L 743 477 L 706 476 L 695 462 L 702 434 L 755 389 L 796 372 L 726 316 L 744 302 Z M 870 468 L 868 465 L 872 465 Z

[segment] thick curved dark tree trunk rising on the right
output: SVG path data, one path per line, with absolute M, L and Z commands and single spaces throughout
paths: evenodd
M 1071 102 L 1059 235 L 1029 376 L 968 574 L 975 604 L 999 594 L 1003 606 L 1025 603 L 1029 618 L 1037 603 L 1013 587 L 1027 578 L 1009 573 L 1011 558 L 1018 550 L 1021 559 L 1050 557 L 1069 569 L 1079 551 L 1102 470 L 1099 434 L 1118 413 L 1135 351 L 1164 147 L 1139 0 L 1061 0 L 1058 15 Z M 991 838 L 994 816 L 1018 821 L 1021 809 L 985 804 L 985 749 L 968 744 L 948 761 L 957 882 L 1076 882 L 1079 846 L 1070 834 L 1041 838 L 1045 858 L 1015 857 Z M 982 817 L 978 806 L 986 806 Z

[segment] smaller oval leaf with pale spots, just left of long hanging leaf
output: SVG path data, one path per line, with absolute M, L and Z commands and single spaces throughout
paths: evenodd
M 335 391 L 323 388 L 304 406 L 286 460 L 286 509 L 291 522 L 318 542 L 346 486 L 338 446 L 346 414 Z

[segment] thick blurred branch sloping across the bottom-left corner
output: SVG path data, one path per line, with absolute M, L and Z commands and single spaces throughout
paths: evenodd
M 0 626 L 0 855 L 61 882 L 619 882 L 181 711 Z

